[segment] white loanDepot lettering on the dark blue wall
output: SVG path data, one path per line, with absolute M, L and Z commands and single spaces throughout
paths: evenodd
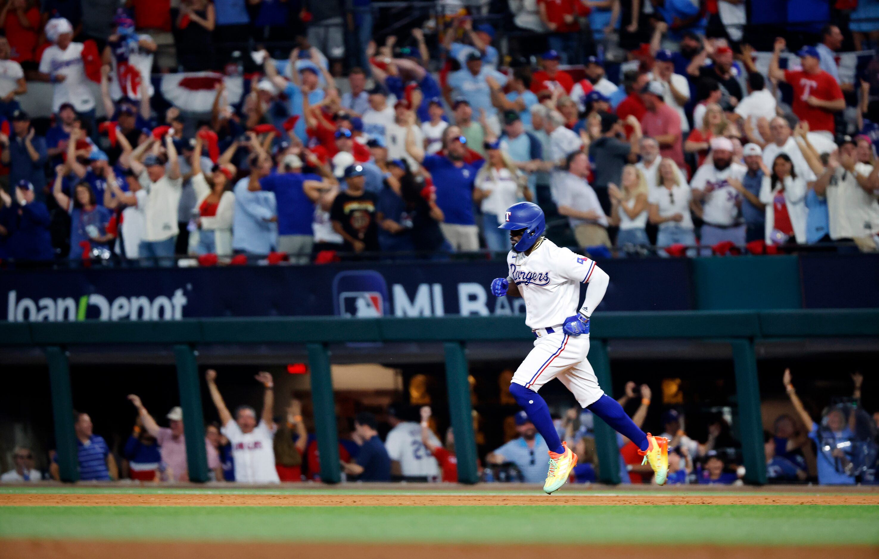
M 56 323 L 89 319 L 98 320 L 180 320 L 186 306 L 183 289 L 171 297 L 117 297 L 109 301 L 104 295 L 93 293 L 74 297 L 43 297 L 33 300 L 18 299 L 18 293 L 10 291 L 6 299 L 6 320 L 11 323 Z

